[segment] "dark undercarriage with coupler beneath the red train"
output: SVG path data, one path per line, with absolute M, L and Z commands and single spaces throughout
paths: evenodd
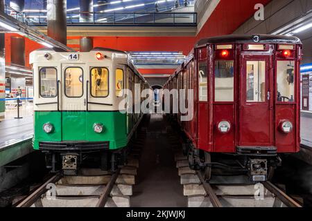
M 252 182 L 270 180 L 281 158 L 275 154 L 208 153 L 191 144 L 184 145 L 191 169 L 200 171 L 205 180 L 211 175 L 248 175 Z

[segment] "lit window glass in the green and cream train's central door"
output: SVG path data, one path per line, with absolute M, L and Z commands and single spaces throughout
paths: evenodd
M 65 95 L 67 97 L 83 96 L 83 69 L 65 69 Z

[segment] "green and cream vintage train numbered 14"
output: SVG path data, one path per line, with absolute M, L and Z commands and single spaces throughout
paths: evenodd
M 88 159 L 102 169 L 122 164 L 143 113 L 119 110 L 123 88 L 150 88 L 127 53 L 107 48 L 90 52 L 31 52 L 34 75 L 33 148 L 46 153 L 52 171 L 76 174 Z M 142 99 L 136 102 L 141 102 Z M 123 112 L 122 112 L 123 111 Z

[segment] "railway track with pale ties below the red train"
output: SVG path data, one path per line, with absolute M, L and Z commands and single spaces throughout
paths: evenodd
M 181 150 L 175 154 L 175 162 L 189 207 L 301 207 L 271 182 L 209 184 L 201 173 L 189 168 Z

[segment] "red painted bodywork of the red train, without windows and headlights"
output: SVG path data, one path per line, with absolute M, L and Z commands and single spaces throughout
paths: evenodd
M 215 57 L 215 52 L 211 46 L 207 46 L 208 53 L 205 60 L 208 68 L 208 101 L 198 102 L 198 96 L 194 95 L 194 113 L 197 113 L 192 121 L 196 123 L 195 135 L 191 122 L 178 122 L 193 142 L 196 148 L 207 152 L 234 153 L 236 146 L 276 146 L 278 153 L 295 153 L 300 150 L 300 45 L 296 46 L 292 58 L 283 60 L 295 60 L 295 102 L 277 101 L 277 65 L 274 65 L 279 51 L 275 51 L 274 44 L 270 44 L 270 50 L 261 52 L 241 50 L 243 45 L 235 46 L 236 56 L 234 59 L 234 102 L 214 102 L 214 61 L 220 59 Z M 198 58 L 200 50 L 197 48 L 194 54 L 194 79 L 198 79 Z M 270 91 L 270 99 L 265 95 L 264 102 L 246 102 L 246 62 L 247 61 L 266 61 L 266 91 Z M 187 77 L 187 84 L 183 81 L 180 85 L 172 84 L 173 79 L 183 73 L 183 78 Z M 168 81 L 164 88 L 184 88 L 190 85 L 190 78 L 185 70 L 175 75 Z M 198 84 L 193 84 L 194 90 L 198 90 Z M 180 117 L 181 113 L 177 116 Z M 220 121 L 227 120 L 232 125 L 228 133 L 220 133 L 217 125 Z M 293 123 L 293 131 L 285 134 L 280 128 L 280 122 L 289 120 Z M 212 137 L 211 137 L 212 135 Z M 195 138 L 195 139 L 194 139 Z

